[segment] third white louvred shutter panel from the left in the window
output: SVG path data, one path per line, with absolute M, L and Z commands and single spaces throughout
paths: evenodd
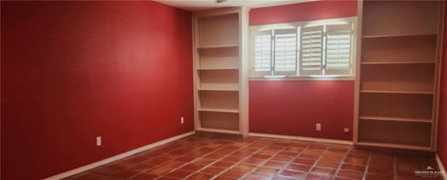
M 323 26 L 301 28 L 300 75 L 322 75 L 323 36 Z

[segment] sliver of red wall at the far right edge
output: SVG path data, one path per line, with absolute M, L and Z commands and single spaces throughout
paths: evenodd
M 447 13 L 447 6 L 445 12 Z M 443 38 L 437 153 L 444 167 L 447 167 L 447 18 L 444 19 Z

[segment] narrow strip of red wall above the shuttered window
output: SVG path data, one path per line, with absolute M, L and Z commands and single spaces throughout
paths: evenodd
M 353 16 L 357 16 L 357 1 L 312 1 L 253 8 L 249 12 L 249 24 L 256 26 Z

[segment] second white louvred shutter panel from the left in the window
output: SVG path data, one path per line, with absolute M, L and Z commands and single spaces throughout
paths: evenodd
M 296 75 L 297 29 L 274 30 L 274 74 Z

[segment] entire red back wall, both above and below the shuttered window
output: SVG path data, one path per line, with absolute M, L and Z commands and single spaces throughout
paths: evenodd
M 249 24 L 357 16 L 357 1 L 314 1 L 254 8 Z M 353 81 L 251 81 L 249 131 L 352 140 Z M 315 130 L 321 123 L 322 130 Z M 349 128 L 350 133 L 343 133 Z

